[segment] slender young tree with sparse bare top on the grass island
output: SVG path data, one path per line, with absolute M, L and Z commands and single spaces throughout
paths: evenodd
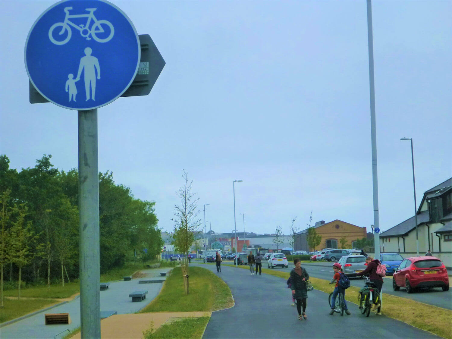
M 196 193 L 192 192 L 193 181 L 188 183 L 188 174 L 185 170 L 182 178 L 184 179 L 184 185 L 176 192 L 180 198 L 180 205 L 174 206 L 174 216 L 176 218 L 171 219 L 175 223 L 172 244 L 176 250 L 185 254 L 181 262 L 181 270 L 184 275 L 185 294 L 189 294 L 188 249 L 195 240 L 195 232 L 201 226 L 201 220 L 197 219 L 199 211 L 196 211 L 196 203 L 199 198 L 194 198 Z

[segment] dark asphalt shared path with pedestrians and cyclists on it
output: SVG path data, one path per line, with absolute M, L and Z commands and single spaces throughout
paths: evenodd
M 291 304 L 286 281 L 269 274 L 251 275 L 247 269 L 215 264 L 192 264 L 207 268 L 223 279 L 231 289 L 235 306 L 212 312 L 203 338 L 438 338 L 401 321 L 359 313 L 349 303 L 351 315 L 329 315 L 328 293 L 308 292 L 307 320 L 298 320 Z M 287 268 L 289 270 L 289 268 Z M 287 271 L 288 272 L 288 271 Z M 309 273 L 309 268 L 308 268 Z

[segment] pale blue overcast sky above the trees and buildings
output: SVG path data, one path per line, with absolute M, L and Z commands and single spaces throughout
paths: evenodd
M 29 104 L 24 44 L 54 1 L 1 0 L 0 153 L 11 168 L 52 155 L 78 166 L 77 113 Z M 151 94 L 99 108 L 99 171 L 155 201 L 169 231 L 183 169 L 202 224 L 289 233 L 373 221 L 365 0 L 115 0 L 166 61 Z M 96 15 L 98 15 L 96 13 Z M 452 176 L 452 1 L 372 1 L 379 216 L 414 215 Z M 99 19 L 99 18 L 98 18 Z M 74 33 L 73 33 L 74 35 Z M 120 70 L 115 70 L 120 71 Z M 207 224 L 208 231 L 208 224 Z

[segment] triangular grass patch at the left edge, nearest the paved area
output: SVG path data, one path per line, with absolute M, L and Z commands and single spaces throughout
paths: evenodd
M 4 299 L 3 308 L 0 309 L 0 323 L 8 320 L 19 318 L 36 310 L 40 310 L 47 306 L 57 303 L 52 299 Z

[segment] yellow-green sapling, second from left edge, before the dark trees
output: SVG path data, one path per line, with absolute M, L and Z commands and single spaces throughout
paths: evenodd
M 14 206 L 14 212 L 17 213 L 16 221 L 11 221 L 9 230 L 8 259 L 19 268 L 19 299 L 22 268 L 31 262 L 33 253 L 30 245 L 36 240 L 37 235 L 32 231 L 32 222 L 25 221 L 28 207 L 25 204 Z

